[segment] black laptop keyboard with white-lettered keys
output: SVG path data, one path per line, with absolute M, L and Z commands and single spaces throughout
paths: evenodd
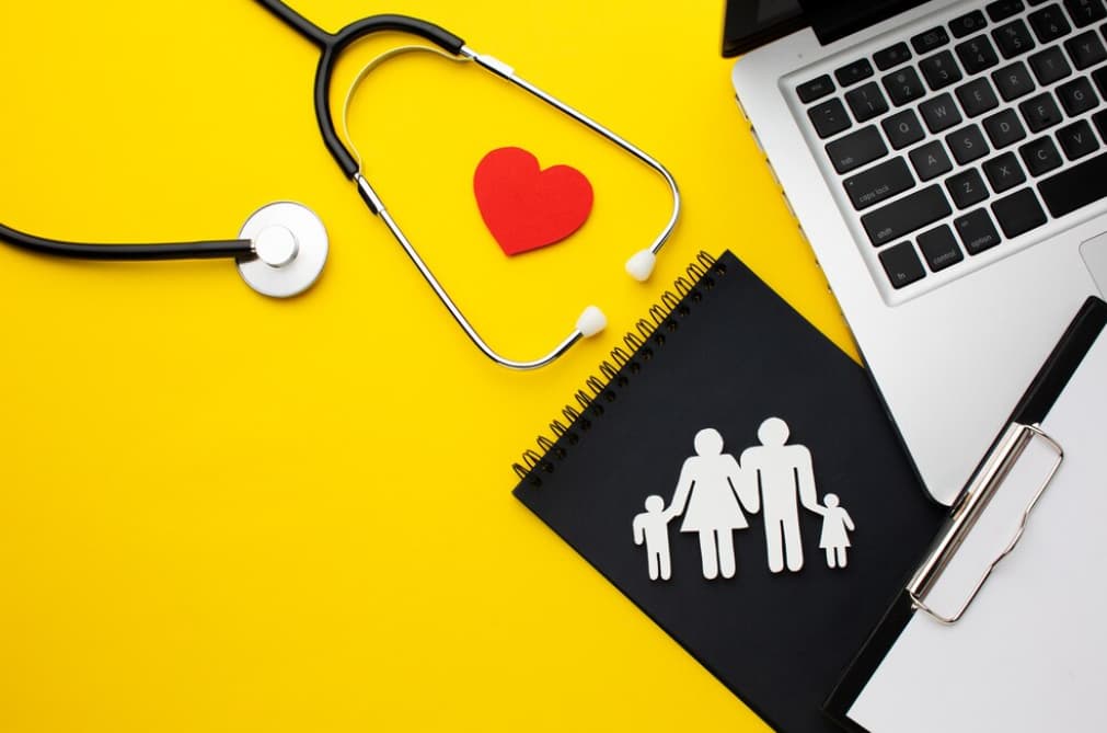
M 1107 7 L 1028 2 L 796 87 L 892 288 L 1107 197 Z

